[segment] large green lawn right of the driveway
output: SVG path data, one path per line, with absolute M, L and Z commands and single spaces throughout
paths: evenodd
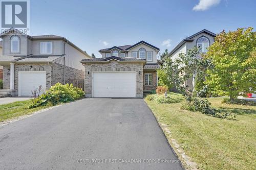
M 212 107 L 235 113 L 237 120 L 182 110 L 182 103 L 145 101 L 158 122 L 167 125 L 171 132 L 165 132 L 167 139 L 176 139 L 199 169 L 255 169 L 256 106 L 228 105 L 221 103 L 222 98 L 208 100 Z

